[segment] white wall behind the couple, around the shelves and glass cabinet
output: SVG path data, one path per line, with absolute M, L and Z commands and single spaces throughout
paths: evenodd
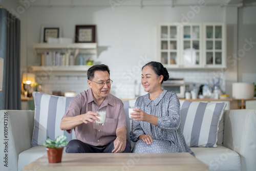
M 120 98 L 133 98 L 134 87 L 137 91 L 140 87 L 140 94 L 143 94 L 139 85 L 141 66 L 146 61 L 157 60 L 157 24 L 186 22 L 183 16 L 187 16 L 189 12 L 193 12 L 189 7 L 138 8 L 120 5 L 113 11 L 110 6 L 73 8 L 32 6 L 27 10 L 27 28 L 24 28 L 24 34 L 27 35 L 27 64 L 39 63 L 39 58 L 34 56 L 31 45 L 40 41 L 41 25 L 61 25 L 64 37 L 74 37 L 75 25 L 94 24 L 97 26 L 98 60 L 110 67 L 111 78 L 115 83 L 113 93 Z M 189 19 L 189 22 L 224 22 L 224 16 L 224 7 L 206 6 L 201 8 L 195 17 Z M 171 71 L 170 75 L 185 77 L 186 82 L 196 82 L 199 85 L 210 80 L 215 74 L 215 71 L 191 71 L 175 70 Z M 134 86 L 135 80 L 137 86 Z M 86 81 L 82 84 L 86 84 Z M 86 87 L 82 88 L 86 89 Z M 47 89 L 50 91 L 49 86 Z M 79 91 L 78 89 L 76 91 Z

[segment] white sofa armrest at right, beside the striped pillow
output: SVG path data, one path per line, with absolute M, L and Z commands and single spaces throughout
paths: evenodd
M 241 170 L 254 170 L 256 168 L 255 130 L 255 110 L 225 111 L 223 146 L 240 155 Z

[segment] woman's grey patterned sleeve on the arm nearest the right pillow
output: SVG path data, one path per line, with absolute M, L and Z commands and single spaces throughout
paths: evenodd
M 167 116 L 158 117 L 157 127 L 163 130 L 175 131 L 180 126 L 180 101 L 173 93 L 168 101 Z

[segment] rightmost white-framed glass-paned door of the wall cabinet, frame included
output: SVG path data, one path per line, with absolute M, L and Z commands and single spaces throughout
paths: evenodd
M 203 24 L 203 61 L 205 68 L 226 68 L 226 25 Z

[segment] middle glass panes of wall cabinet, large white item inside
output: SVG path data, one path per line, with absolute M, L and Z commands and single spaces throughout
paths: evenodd
M 182 65 L 198 67 L 201 65 L 201 25 L 185 25 L 183 27 Z

